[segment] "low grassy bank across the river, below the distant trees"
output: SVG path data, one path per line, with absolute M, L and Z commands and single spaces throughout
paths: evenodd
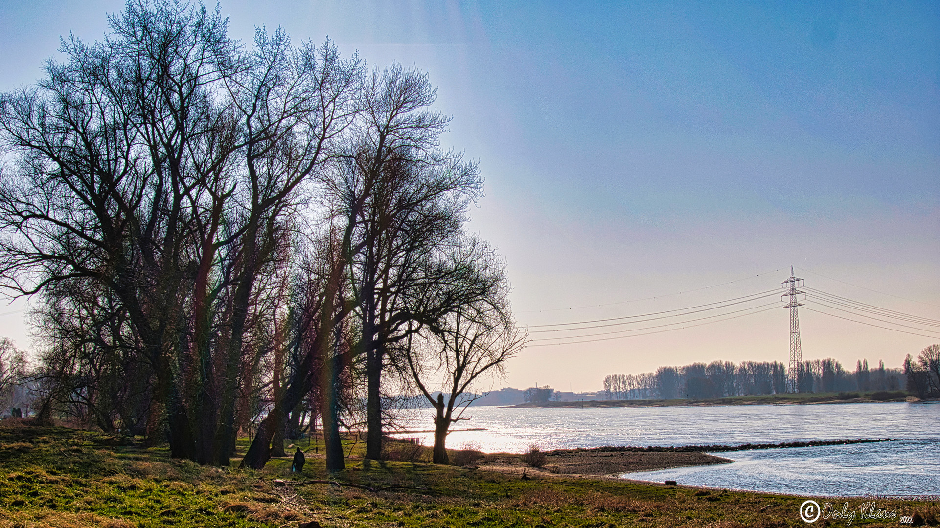
M 782 395 L 729 396 L 713 399 L 617 399 L 590 401 L 548 401 L 523 403 L 514 407 L 700 407 L 706 405 L 799 405 L 819 403 L 888 403 L 917 401 L 902 391 L 875 393 L 796 393 Z

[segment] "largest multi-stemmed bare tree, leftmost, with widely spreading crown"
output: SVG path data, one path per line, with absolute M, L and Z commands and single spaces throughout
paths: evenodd
M 257 278 L 335 154 L 361 68 L 282 32 L 246 53 L 202 6 L 132 0 L 109 21 L 0 101 L 0 286 L 108 289 L 154 373 L 151 438 L 166 424 L 173 456 L 224 465 Z

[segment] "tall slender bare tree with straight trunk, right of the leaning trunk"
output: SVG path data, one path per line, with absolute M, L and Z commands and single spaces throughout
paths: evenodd
M 356 354 L 366 364 L 368 458 L 382 454 L 385 355 L 407 334 L 402 289 L 410 267 L 460 233 L 465 209 L 481 190 L 476 164 L 440 148 L 449 118 L 431 110 L 435 97 L 422 71 L 398 63 L 373 70 L 347 154 L 344 195 L 361 200 L 352 219 L 350 278 L 361 327 Z

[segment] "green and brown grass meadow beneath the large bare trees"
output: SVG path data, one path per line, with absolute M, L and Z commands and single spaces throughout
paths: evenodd
M 351 456 L 340 474 L 325 474 L 323 459 L 312 452 L 303 475 L 290 474 L 286 458 L 257 472 L 200 467 L 170 459 L 165 448 L 121 446 L 102 433 L 8 422 L 0 424 L 0 528 L 296 527 L 305 520 L 343 528 L 806 526 L 797 513 L 801 497 L 566 478 L 531 468 L 522 479 L 471 467 L 363 460 L 363 444 L 356 442 L 346 444 Z M 246 445 L 240 440 L 241 452 Z M 373 493 L 274 482 L 327 476 L 374 488 L 426 489 Z M 848 501 L 856 509 L 864 502 Z M 937 513 L 923 501 L 879 499 L 878 507 L 928 519 Z M 896 526 L 898 520 L 853 525 Z

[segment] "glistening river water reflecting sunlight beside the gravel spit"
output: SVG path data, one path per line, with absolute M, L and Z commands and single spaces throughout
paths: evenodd
M 431 410 L 409 428 L 431 429 Z M 522 452 L 602 445 L 781 443 L 847 438 L 901 442 L 734 451 L 735 462 L 626 474 L 628 478 L 801 495 L 940 494 L 940 404 L 859 403 L 548 409 L 471 407 L 447 446 Z M 431 445 L 431 433 L 406 433 Z

